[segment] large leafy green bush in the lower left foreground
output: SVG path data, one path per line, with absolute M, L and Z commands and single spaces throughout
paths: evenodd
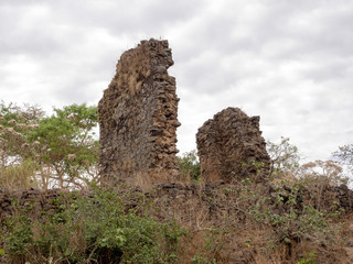
M 58 209 L 38 220 L 8 220 L 4 252 L 15 263 L 175 263 L 183 231 L 126 210 L 113 191 L 95 187 L 90 197 L 62 196 Z

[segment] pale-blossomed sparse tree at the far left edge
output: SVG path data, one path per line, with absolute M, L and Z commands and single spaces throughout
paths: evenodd
M 8 188 L 36 186 L 36 164 L 29 158 L 28 134 L 44 112 L 36 106 L 0 103 L 0 184 Z

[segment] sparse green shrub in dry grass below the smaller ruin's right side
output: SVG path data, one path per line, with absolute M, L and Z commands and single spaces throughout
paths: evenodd
M 253 220 L 272 227 L 279 243 L 290 245 L 293 241 L 307 239 L 315 244 L 324 244 L 328 234 L 336 231 L 330 228 L 330 223 L 340 211 L 328 212 L 300 204 L 300 197 L 303 197 L 300 182 L 289 189 L 278 187 L 271 196 L 258 194 L 252 183 L 243 180 L 243 184 L 242 197 L 250 200 L 247 210 Z

